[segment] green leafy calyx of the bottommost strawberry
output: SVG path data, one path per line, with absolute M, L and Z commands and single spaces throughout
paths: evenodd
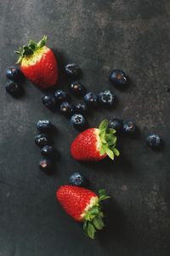
M 85 234 L 94 239 L 95 232 L 97 230 L 102 230 L 105 227 L 103 222 L 104 213 L 101 209 L 101 201 L 111 198 L 109 195 L 105 194 L 105 189 L 99 190 L 99 200 L 93 207 L 91 207 L 83 218 L 83 230 Z

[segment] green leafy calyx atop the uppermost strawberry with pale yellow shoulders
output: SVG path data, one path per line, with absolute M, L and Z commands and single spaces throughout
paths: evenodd
M 20 57 L 16 63 L 20 64 L 22 59 L 25 56 L 33 55 L 35 53 L 35 51 L 37 51 L 37 49 L 40 49 L 43 46 L 45 46 L 45 44 L 47 43 L 47 40 L 48 40 L 47 36 L 43 36 L 43 38 L 38 43 L 30 40 L 28 45 L 24 45 L 22 48 L 20 47 L 18 50 L 15 50 L 14 52 L 17 55 L 20 55 Z

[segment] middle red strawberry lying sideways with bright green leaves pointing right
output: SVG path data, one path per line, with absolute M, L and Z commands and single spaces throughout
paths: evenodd
M 71 155 L 75 160 L 103 160 L 108 155 L 114 160 L 119 151 L 116 146 L 116 131 L 108 128 L 109 121 L 103 120 L 99 128 L 82 131 L 71 144 Z

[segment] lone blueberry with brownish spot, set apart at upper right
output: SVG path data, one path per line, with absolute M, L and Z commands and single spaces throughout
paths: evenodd
M 122 70 L 115 69 L 111 73 L 111 82 L 116 85 L 117 88 L 124 89 L 127 85 L 127 76 Z

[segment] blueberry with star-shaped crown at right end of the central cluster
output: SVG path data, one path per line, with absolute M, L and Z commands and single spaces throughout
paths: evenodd
M 111 107 L 115 102 L 115 96 L 111 92 L 111 90 L 104 90 L 99 93 L 98 96 L 99 104 L 104 107 Z

